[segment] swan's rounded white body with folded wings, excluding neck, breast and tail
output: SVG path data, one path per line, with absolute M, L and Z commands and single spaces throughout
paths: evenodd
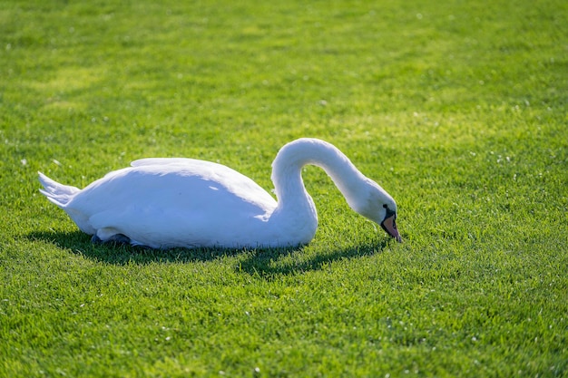
M 94 181 L 64 209 L 88 218 L 97 235 L 124 234 L 149 247 L 192 247 L 238 244 L 233 230 L 254 232 L 276 206 L 266 190 L 223 165 L 150 159 Z

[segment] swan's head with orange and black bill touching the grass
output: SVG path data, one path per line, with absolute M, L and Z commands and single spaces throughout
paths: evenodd
M 349 206 L 363 217 L 379 224 L 398 242 L 402 242 L 397 229 L 397 203 L 375 181 L 367 179 L 361 194 Z

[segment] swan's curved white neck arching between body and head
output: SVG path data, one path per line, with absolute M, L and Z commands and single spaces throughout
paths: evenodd
M 357 198 L 357 189 L 365 176 L 340 150 L 318 140 L 292 141 L 279 150 L 272 163 L 272 182 L 278 198 L 277 213 L 290 217 L 315 217 L 316 208 L 301 177 L 302 167 L 315 165 L 328 173 L 349 205 Z

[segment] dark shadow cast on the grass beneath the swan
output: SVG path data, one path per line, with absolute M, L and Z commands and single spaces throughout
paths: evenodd
M 240 257 L 236 270 L 251 276 L 289 275 L 322 269 L 329 262 L 379 253 L 387 241 L 357 247 L 338 248 L 325 254 L 297 258 L 304 247 L 230 249 L 230 248 L 172 248 L 150 249 L 122 244 L 93 244 L 91 237 L 81 231 L 36 231 L 27 235 L 30 240 L 41 240 L 68 249 L 76 255 L 112 265 L 150 263 L 187 263 L 213 261 L 223 257 Z

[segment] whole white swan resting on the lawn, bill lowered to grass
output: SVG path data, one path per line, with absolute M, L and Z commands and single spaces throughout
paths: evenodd
M 220 164 L 192 159 L 142 159 L 84 189 L 39 173 L 40 191 L 63 208 L 93 241 L 169 247 L 293 247 L 318 228 L 301 169 L 313 164 L 333 179 L 357 213 L 398 234 L 395 200 L 336 147 L 292 141 L 272 163 L 277 202 L 253 180 Z

